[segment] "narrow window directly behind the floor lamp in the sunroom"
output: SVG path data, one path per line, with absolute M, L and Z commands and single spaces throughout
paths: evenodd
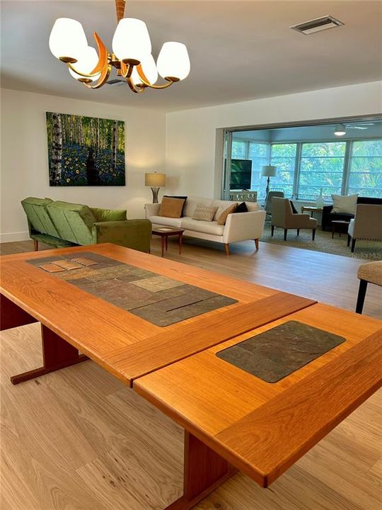
M 284 195 L 291 198 L 294 195 L 297 144 L 272 144 L 271 147 L 271 164 L 277 166 L 277 175 L 272 177 L 270 188 L 284 191 Z

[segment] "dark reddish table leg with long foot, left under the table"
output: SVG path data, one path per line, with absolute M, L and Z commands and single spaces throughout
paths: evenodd
M 42 337 L 42 360 L 43 365 L 40 368 L 28 370 L 18 375 L 11 377 L 11 382 L 16 385 L 19 382 L 34 379 L 45 375 L 60 368 L 65 368 L 81 361 L 86 361 L 88 356 L 79 354 L 78 349 L 69 344 L 67 341 L 54 333 L 41 324 L 41 337 Z

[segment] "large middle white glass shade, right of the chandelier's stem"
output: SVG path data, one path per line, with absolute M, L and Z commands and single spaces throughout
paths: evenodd
M 136 18 L 122 18 L 112 38 L 112 51 L 118 60 L 138 60 L 151 54 L 151 40 L 146 23 Z

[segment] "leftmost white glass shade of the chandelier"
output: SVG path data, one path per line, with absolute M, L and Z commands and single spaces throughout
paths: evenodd
M 58 18 L 49 38 L 50 51 L 54 57 L 77 59 L 88 45 L 81 23 L 71 18 Z

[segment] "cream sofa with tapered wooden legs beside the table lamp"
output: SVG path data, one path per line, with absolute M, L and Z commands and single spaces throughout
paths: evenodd
M 214 205 L 218 208 L 212 222 L 192 220 L 192 215 L 198 203 Z M 185 229 L 184 235 L 207 239 L 223 243 L 226 246 L 226 254 L 229 255 L 229 244 L 237 241 L 253 239 L 256 249 L 259 247 L 259 239 L 262 236 L 265 222 L 265 210 L 260 210 L 255 202 L 246 202 L 248 212 L 237 212 L 228 215 L 226 225 L 218 225 L 217 219 L 221 212 L 226 210 L 234 202 L 228 200 L 212 200 L 212 198 L 188 197 L 183 210 L 183 217 L 170 218 L 158 216 L 161 204 L 146 204 L 146 218 L 157 225 L 180 227 Z

